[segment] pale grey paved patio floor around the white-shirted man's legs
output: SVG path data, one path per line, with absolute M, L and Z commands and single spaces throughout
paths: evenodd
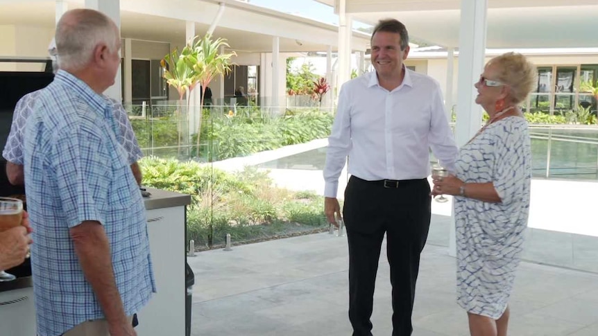
M 436 215 L 437 216 L 437 215 Z M 455 260 L 432 220 L 422 254 L 413 335 L 469 335 L 455 303 Z M 444 236 L 445 237 L 445 236 Z M 374 335 L 391 335 L 391 286 L 385 248 L 372 316 Z M 194 336 L 351 335 L 345 237 L 309 236 L 213 250 L 189 258 L 194 269 Z M 598 335 L 598 274 L 522 263 L 511 298 L 509 335 Z

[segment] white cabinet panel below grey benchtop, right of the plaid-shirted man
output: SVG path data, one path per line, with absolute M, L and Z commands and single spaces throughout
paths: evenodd
M 185 335 L 185 206 L 147 211 L 156 281 L 147 306 L 137 313 L 137 335 Z

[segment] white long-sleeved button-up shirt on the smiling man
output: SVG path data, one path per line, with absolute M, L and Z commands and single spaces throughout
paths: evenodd
M 341 87 L 339 107 L 328 138 L 324 168 L 326 197 L 336 197 L 339 175 L 374 181 L 422 179 L 430 175 L 429 148 L 454 170 L 457 148 L 447 121 L 440 85 L 404 68 L 399 87 L 381 87 L 376 72 Z

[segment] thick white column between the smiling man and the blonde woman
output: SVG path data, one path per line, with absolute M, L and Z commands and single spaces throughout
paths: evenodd
M 484 69 L 488 0 L 461 0 L 459 31 L 459 80 L 457 83 L 455 140 L 461 147 L 481 127 L 481 107 L 475 103 L 473 86 Z M 449 254 L 456 255 L 454 225 L 451 225 Z

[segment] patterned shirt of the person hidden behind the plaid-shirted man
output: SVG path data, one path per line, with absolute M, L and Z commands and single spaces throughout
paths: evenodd
M 23 165 L 23 132 L 25 130 L 25 123 L 33 105 L 37 100 L 37 96 L 40 95 L 41 90 L 33 91 L 31 94 L 23 96 L 17 106 L 15 107 L 15 113 L 12 114 L 12 125 L 10 125 L 10 134 L 6 140 L 6 146 L 2 152 L 2 156 L 7 161 Z M 117 121 L 117 139 L 119 143 L 125 148 L 128 154 L 128 163 L 131 165 L 143 157 L 141 149 L 139 149 L 139 143 L 133 132 L 133 127 L 129 122 L 127 113 L 117 100 L 110 99 L 112 104 L 112 112 L 114 112 L 114 120 Z

